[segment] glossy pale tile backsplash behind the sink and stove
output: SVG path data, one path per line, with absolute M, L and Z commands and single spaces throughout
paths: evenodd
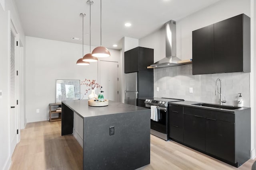
M 244 106 L 250 107 L 250 73 L 192 75 L 192 64 L 154 69 L 154 96 L 218 104 L 220 97 L 215 96 L 217 78 L 222 80 L 222 94 L 227 105 L 237 106 L 238 93 L 242 93 Z M 156 87 L 160 88 L 159 92 Z M 189 93 L 190 87 L 193 93 Z

